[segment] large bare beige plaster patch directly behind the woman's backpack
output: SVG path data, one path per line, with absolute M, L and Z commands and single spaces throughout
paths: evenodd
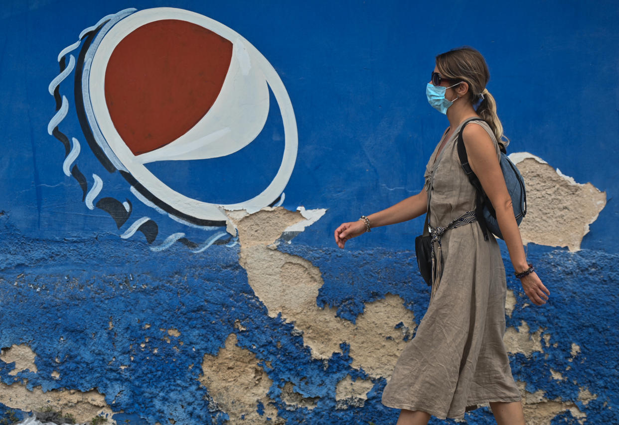
M 591 183 L 576 183 L 535 155 L 518 152 L 509 158 L 527 185 L 527 216 L 520 225 L 522 242 L 578 251 L 589 224 L 606 205 L 606 193 Z

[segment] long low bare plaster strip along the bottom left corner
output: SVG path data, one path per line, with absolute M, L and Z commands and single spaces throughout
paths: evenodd
M 95 416 L 106 416 L 108 424 L 116 425 L 111 417 L 113 412 L 105 402 L 105 396 L 96 390 L 80 392 L 78 390 L 51 390 L 43 392 L 41 387 L 28 390 L 24 384 L 15 382 L 6 385 L 0 382 L 0 403 L 9 408 L 23 411 L 50 408 L 72 414 L 77 422 L 86 422 Z

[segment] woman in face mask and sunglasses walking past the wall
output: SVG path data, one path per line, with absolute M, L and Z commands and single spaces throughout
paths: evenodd
M 421 216 L 430 207 L 430 226 L 446 226 L 475 209 L 475 188 L 462 170 L 456 140 L 462 138 L 469 164 L 496 211 L 501 234 L 514 271 L 535 305 L 550 292 L 527 259 L 511 198 L 499 165 L 503 127 L 494 98 L 485 88 L 490 78 L 483 56 L 472 48 L 454 49 L 436 57 L 426 94 L 449 127 L 426 166 L 420 193 L 383 211 L 340 225 L 335 242 L 372 227 Z M 475 105 L 479 105 L 475 109 Z M 435 243 L 437 270 L 433 275 L 430 306 L 415 338 L 397 361 L 384 389 L 383 404 L 399 408 L 397 425 L 426 424 L 430 416 L 462 418 L 464 412 L 490 403 L 498 424 L 524 425 L 521 396 L 509 368 L 503 344 L 506 279 L 495 238 L 488 240 L 477 221 L 447 230 Z

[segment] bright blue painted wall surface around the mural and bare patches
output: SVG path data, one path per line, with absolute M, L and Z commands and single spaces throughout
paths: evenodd
M 27 379 L 29 388 L 41 385 L 44 390 L 96 387 L 108 394 L 113 410 L 134 415 L 134 423 L 140 423 L 135 415 L 143 423 L 170 417 L 177 423 L 209 423 L 211 418 L 222 423 L 226 414 L 209 406 L 206 389 L 196 381 L 199 368 L 188 371 L 187 366 L 199 364 L 206 353 L 216 354 L 239 319 L 250 330 L 238 335 L 239 345 L 272 363 L 271 396 L 288 423 L 395 422 L 397 412 L 380 404 L 384 379 L 376 380 L 363 408 L 335 410 L 335 383 L 347 374 L 365 377 L 365 372 L 350 366 L 346 347 L 326 370 L 311 360 L 292 326 L 269 318 L 253 295 L 238 263 L 238 245 L 214 245 L 193 255 L 177 243 L 153 253 L 137 235 L 119 238 L 122 230 L 110 216 L 87 209 L 77 182 L 64 176 L 64 148 L 46 132 L 54 114 L 48 84 L 58 74 L 58 52 L 106 14 L 171 6 L 233 28 L 282 78 L 299 134 L 284 206 L 328 210 L 280 249 L 318 266 L 325 282 L 318 304 L 335 306 L 342 318 L 352 320 L 364 302 L 386 293 L 408 301 L 415 318 L 423 316 L 428 290 L 409 251 L 420 219 L 371 232 L 344 252 L 335 249 L 332 231 L 342 221 L 422 188 L 423 167 L 447 125 L 424 95 L 434 56 L 463 44 L 479 49 L 490 66 L 488 90 L 497 100 L 510 148 L 540 156 L 577 182 L 591 182 L 606 191 L 608 200 L 581 251 L 529 246 L 529 259 L 539 264 L 553 293 L 547 306 L 523 308 L 517 282 L 508 282 L 517 295 L 508 326 L 524 320 L 558 343 L 532 358 L 513 356 L 514 377 L 527 382 L 529 392 L 541 389 L 546 397 L 564 401 L 577 400 L 579 387 L 588 387 L 597 395 L 579 405 L 588 423 L 619 423 L 617 2 L 482 1 L 473 7 L 454 1 L 436 8 L 416 1 L 332 3 L 2 1 L 0 346 L 29 345 L 38 368 L 37 374 L 9 376 L 7 365 L 0 370 L 2 382 Z M 72 98 L 71 84 L 63 91 Z M 63 130 L 80 134 L 75 116 L 67 117 Z M 82 147 L 79 164 L 87 177 L 105 175 L 108 193 L 153 214 L 118 173 L 106 174 L 88 146 Z M 265 163 L 256 175 L 268 174 L 274 156 L 265 150 L 258 158 L 251 154 L 255 163 L 248 156 L 219 164 L 216 175 L 233 176 Z M 227 193 L 224 186 L 208 190 L 214 198 Z M 157 244 L 174 232 L 186 232 L 200 243 L 204 239 L 169 219 L 158 224 Z M 373 259 L 369 264 L 368 258 Z M 506 269 L 509 274 L 509 261 Z M 110 318 L 113 330 L 108 329 Z M 196 351 L 171 353 L 170 345 L 154 340 L 158 356 L 145 359 L 136 345 L 144 340 L 144 322 L 154 329 L 191 329 L 183 341 Z M 282 348 L 275 347 L 276 340 Z M 579 361 L 570 363 L 566 381 L 555 381 L 550 369 L 565 370 L 572 343 L 581 347 Z M 119 369 L 129 355 L 135 358 L 131 367 Z M 166 361 L 170 355 L 175 362 Z M 63 359 L 60 366 L 54 363 L 57 356 Z M 54 380 L 50 374 L 57 369 L 61 378 Z M 278 386 L 284 381 L 298 385 L 306 397 L 320 397 L 318 406 L 286 410 Z M 171 387 L 181 389 L 171 392 Z M 478 410 L 467 421 L 491 423 L 491 416 Z M 576 422 L 565 413 L 552 423 Z

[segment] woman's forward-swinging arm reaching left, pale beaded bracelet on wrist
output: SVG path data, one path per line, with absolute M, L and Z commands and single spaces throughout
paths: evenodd
M 401 223 L 414 219 L 426 212 L 428 206 L 428 194 L 422 189 L 417 195 L 409 196 L 405 200 L 383 209 L 383 211 L 370 214 L 368 219 L 371 226 L 379 227 L 388 224 Z M 344 248 L 346 241 L 365 233 L 365 222 L 362 220 L 352 221 L 341 224 L 335 229 L 335 243 L 340 248 Z

